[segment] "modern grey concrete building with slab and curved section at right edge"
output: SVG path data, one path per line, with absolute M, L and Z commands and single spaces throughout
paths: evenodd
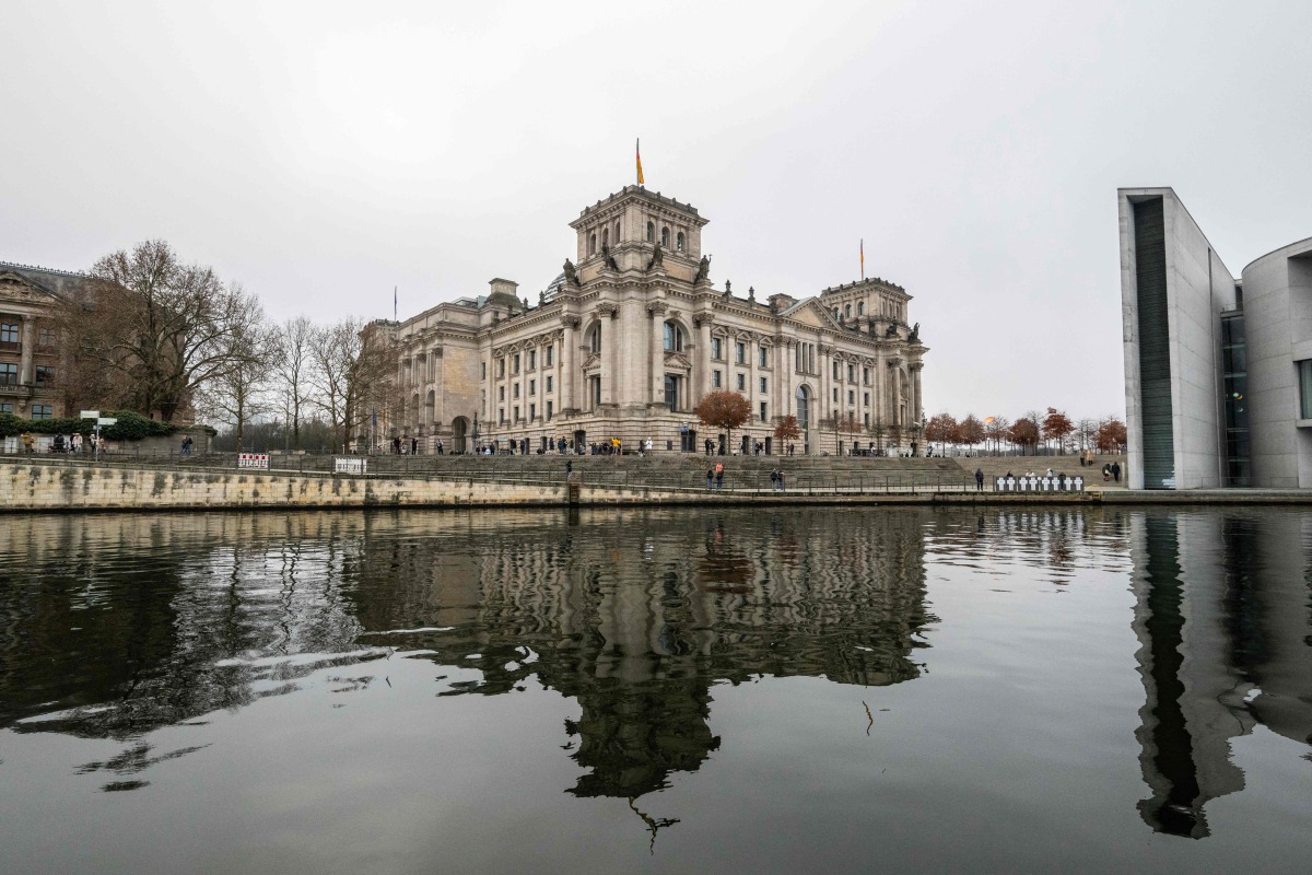
M 1118 201 L 1130 487 L 1312 487 L 1312 239 L 1236 279 L 1172 189 Z

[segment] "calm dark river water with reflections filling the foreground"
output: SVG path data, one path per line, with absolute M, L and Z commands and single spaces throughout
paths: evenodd
M 1312 513 L 0 517 L 13 872 L 1303 872 Z

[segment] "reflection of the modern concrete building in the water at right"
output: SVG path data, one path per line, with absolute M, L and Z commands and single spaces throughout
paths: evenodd
M 1231 739 L 1312 732 L 1304 514 L 1131 517 L 1134 627 L 1147 699 L 1136 731 L 1157 832 L 1202 838 L 1204 805 L 1244 788 Z

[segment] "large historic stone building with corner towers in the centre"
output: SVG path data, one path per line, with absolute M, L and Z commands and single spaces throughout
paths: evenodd
M 711 391 L 736 391 L 752 418 L 729 453 L 798 417 L 796 453 L 853 445 L 911 447 L 922 420 L 926 348 L 908 325 L 911 295 L 865 279 L 792 298 L 758 300 L 716 287 L 702 251 L 707 219 L 642 186 L 571 222 L 575 261 L 538 295 L 492 279 L 489 294 L 438 304 L 401 323 L 379 320 L 366 342 L 396 350 L 380 396 L 398 397 L 361 439 L 437 439 L 447 451 L 512 442 L 530 451 L 564 438 L 581 445 L 651 439 L 701 451 L 708 433 L 693 413 Z

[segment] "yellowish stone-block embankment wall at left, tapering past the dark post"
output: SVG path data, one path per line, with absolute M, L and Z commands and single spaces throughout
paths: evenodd
M 589 504 L 668 500 L 651 489 L 581 489 Z M 0 463 L 0 509 L 136 510 L 184 508 L 371 508 L 564 505 L 567 485 L 299 475 L 278 471 L 173 471 Z

